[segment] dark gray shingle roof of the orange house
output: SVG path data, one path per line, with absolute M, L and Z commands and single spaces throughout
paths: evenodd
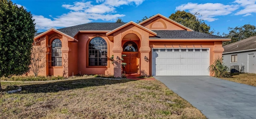
M 111 31 L 126 23 L 86 23 L 71 27 L 57 29 L 58 31 L 74 37 L 78 31 Z M 153 39 L 223 39 L 224 37 L 200 33 L 197 31 L 184 30 L 152 30 L 157 33 L 157 37 L 150 37 Z M 39 35 L 41 33 L 37 33 Z

